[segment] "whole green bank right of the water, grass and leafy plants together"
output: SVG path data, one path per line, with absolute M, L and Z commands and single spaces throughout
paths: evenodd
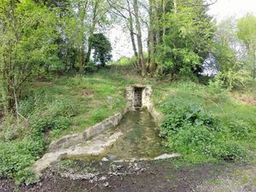
M 191 82 L 155 87 L 154 103 L 165 119 L 160 137 L 191 163 L 246 161 L 256 149 L 256 107 L 225 90 Z

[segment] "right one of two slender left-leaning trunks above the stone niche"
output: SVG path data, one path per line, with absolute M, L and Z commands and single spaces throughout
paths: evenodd
M 137 0 L 133 0 L 133 9 L 135 12 L 135 20 L 136 20 L 136 28 L 137 28 L 138 65 L 141 67 L 142 75 L 144 77 L 146 75 L 146 67 L 144 64 L 142 29 L 141 29 L 141 23 L 139 18 Z

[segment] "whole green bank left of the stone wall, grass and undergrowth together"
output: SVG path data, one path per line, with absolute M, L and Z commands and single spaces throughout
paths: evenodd
M 19 103 L 24 117 L 16 121 L 10 115 L 0 126 L 0 177 L 15 177 L 18 183 L 37 181 L 27 167 L 44 154 L 49 143 L 120 111 L 125 107 L 125 86 L 136 82 L 114 67 L 82 77 L 32 82 Z

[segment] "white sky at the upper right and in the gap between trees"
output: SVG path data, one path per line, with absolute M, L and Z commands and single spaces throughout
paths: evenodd
M 256 15 L 256 0 L 218 0 L 209 8 L 209 14 L 218 21 L 230 16 L 239 18 L 247 13 Z M 147 33 L 144 33 L 144 36 L 146 35 Z M 118 60 L 122 56 L 133 55 L 129 33 L 122 32 L 122 26 L 111 29 L 108 38 L 110 38 L 113 46 L 113 60 Z

